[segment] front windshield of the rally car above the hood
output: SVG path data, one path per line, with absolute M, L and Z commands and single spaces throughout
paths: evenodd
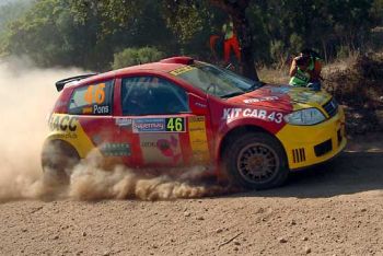
M 230 70 L 196 61 L 195 65 L 173 70 L 172 74 L 190 83 L 204 92 L 222 98 L 241 95 L 262 86 Z

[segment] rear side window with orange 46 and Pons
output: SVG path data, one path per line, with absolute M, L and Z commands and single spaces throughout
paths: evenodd
M 74 89 L 68 113 L 72 115 L 111 115 L 113 81 Z

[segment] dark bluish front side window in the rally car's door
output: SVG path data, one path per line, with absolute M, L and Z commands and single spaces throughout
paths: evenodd
M 156 77 L 125 78 L 121 83 L 123 115 L 167 115 L 189 112 L 186 92 Z

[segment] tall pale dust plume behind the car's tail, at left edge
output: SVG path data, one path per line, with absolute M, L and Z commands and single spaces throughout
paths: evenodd
M 78 69 L 37 69 L 27 58 L 0 60 L 0 201 L 44 193 L 40 151 L 55 82 Z

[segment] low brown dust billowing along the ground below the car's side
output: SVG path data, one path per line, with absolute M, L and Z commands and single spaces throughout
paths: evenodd
M 172 200 L 176 198 L 199 198 L 227 193 L 217 185 L 190 185 L 188 177 L 148 175 L 150 170 L 131 171 L 116 166 L 113 171 L 100 168 L 97 156 L 90 154 L 78 164 L 68 190 L 70 198 L 79 200 L 141 199 Z M 187 170 L 194 177 L 201 176 L 202 166 Z M 139 172 L 139 173 L 138 173 Z M 187 181 L 186 181 L 187 179 Z

